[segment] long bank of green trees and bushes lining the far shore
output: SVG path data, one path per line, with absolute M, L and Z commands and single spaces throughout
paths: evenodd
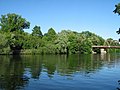
M 29 34 L 24 29 L 30 27 L 30 22 L 14 13 L 1 15 L 0 27 L 0 54 L 89 54 L 92 45 L 119 45 L 111 38 L 104 40 L 89 31 L 56 33 L 50 28 L 43 35 L 40 26 L 35 25 Z

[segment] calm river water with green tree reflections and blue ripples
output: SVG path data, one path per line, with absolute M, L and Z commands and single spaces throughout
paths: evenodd
M 120 54 L 0 56 L 0 90 L 119 90 Z

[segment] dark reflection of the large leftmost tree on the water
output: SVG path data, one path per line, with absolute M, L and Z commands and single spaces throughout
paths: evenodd
M 17 60 L 19 58 L 19 60 Z M 20 57 L 1 56 L 0 58 L 0 88 L 5 90 L 16 90 L 28 83 L 24 76 L 24 66 Z

